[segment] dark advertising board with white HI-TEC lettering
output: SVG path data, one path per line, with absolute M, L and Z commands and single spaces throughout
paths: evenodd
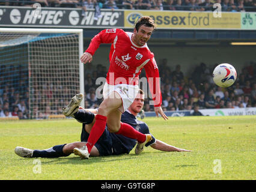
M 0 22 L 5 19 L 5 25 L 115 26 L 121 16 L 120 11 L 102 11 L 100 17 L 95 17 L 90 10 L 82 17 L 80 10 L 41 8 L 37 3 L 32 8 L 0 8 Z

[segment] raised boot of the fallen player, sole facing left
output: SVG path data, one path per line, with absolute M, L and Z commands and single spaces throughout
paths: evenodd
M 76 94 L 72 99 L 70 100 L 69 104 L 66 107 L 62 108 L 62 114 L 65 116 L 72 116 L 74 117 L 74 113 L 76 113 L 79 109 L 79 105 L 83 99 L 83 94 Z

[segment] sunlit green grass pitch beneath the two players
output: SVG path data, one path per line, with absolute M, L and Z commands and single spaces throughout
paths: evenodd
M 133 150 L 129 155 L 89 160 L 73 154 L 21 158 L 14 154 L 16 146 L 47 149 L 79 141 L 81 124 L 73 119 L 0 121 L 0 179 L 256 179 L 256 116 L 144 121 L 157 139 L 192 152 L 161 152 L 148 147 L 141 155 Z

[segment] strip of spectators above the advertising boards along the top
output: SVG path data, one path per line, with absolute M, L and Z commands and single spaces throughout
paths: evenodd
M 213 4 L 222 5 L 222 11 L 256 11 L 254 0 L 7 0 L 0 5 L 32 6 L 35 2 L 42 7 L 109 8 L 130 10 L 186 10 L 213 11 Z

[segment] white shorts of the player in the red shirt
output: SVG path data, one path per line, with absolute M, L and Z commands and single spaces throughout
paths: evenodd
M 108 98 L 113 91 L 120 95 L 121 100 L 123 101 L 123 106 L 119 107 L 118 110 L 124 113 L 135 100 L 135 97 L 139 92 L 139 86 L 127 84 L 109 85 L 108 83 L 105 83 L 103 88 L 103 98 Z

